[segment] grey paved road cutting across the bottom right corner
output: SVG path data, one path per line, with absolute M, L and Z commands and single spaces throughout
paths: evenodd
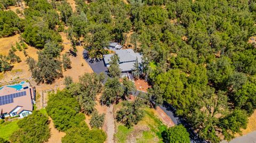
M 242 137 L 237 137 L 231 141 L 229 141 L 229 143 L 256 143 L 256 131 L 253 131 L 251 133 L 246 134 L 245 136 Z M 221 143 L 227 143 L 227 141 L 221 141 Z

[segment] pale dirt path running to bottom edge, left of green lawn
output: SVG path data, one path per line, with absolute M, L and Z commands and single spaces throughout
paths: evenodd
M 113 114 L 114 106 L 110 105 L 107 108 L 106 121 L 107 121 L 107 143 L 114 143 L 114 134 L 115 134 L 115 119 Z

